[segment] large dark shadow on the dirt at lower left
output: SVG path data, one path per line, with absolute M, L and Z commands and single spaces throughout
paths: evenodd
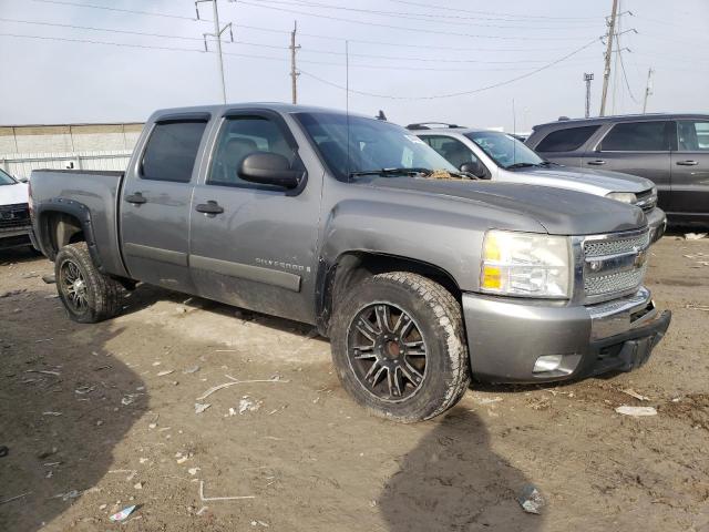
M 56 300 L 44 293 L 3 301 L 0 446 L 9 451 L 0 458 L 0 530 L 34 531 L 97 490 L 148 397 L 112 355 L 123 332 L 114 323 L 66 320 L 58 329 Z

